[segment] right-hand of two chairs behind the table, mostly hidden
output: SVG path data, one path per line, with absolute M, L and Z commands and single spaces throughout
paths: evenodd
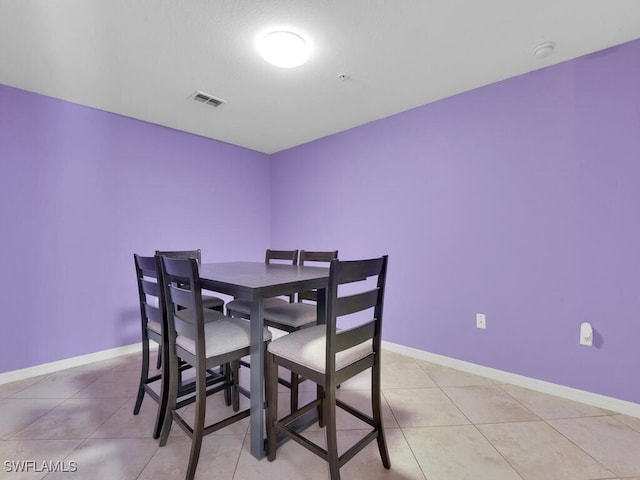
M 338 251 L 313 252 L 300 250 L 298 264 L 304 266 L 312 263 L 316 266 L 330 263 L 338 258 Z M 264 324 L 287 333 L 307 328 L 317 323 L 317 292 L 315 290 L 298 292 L 297 301 L 293 303 L 278 302 L 264 308 Z M 311 302 L 311 303 L 310 303 Z M 300 378 L 291 372 L 289 380 L 279 377 L 281 385 L 291 390 L 291 411 L 298 408 L 298 386 Z

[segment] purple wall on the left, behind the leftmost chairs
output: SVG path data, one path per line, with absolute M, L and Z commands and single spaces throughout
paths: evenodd
M 262 260 L 268 168 L 264 154 L 0 86 L 0 372 L 139 342 L 134 252 Z

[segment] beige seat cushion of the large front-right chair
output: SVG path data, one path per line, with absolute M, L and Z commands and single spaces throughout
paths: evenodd
M 269 352 L 320 373 L 326 367 L 325 325 L 314 325 L 277 338 L 269 344 Z M 361 343 L 336 354 L 336 370 L 340 370 L 373 351 L 371 341 Z

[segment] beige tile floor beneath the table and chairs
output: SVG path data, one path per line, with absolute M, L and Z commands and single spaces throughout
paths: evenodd
M 167 445 L 158 446 L 150 399 L 132 414 L 139 365 L 139 355 L 127 355 L 0 385 L 0 479 L 182 479 L 187 437 L 174 427 Z M 303 395 L 312 394 L 308 383 Z M 367 387 L 361 375 L 339 395 L 367 408 Z M 342 468 L 344 480 L 640 480 L 637 418 L 391 352 L 383 357 L 383 395 L 392 468 L 382 467 L 374 443 Z M 287 396 L 281 392 L 283 408 Z M 208 402 L 211 416 L 226 409 L 219 398 Z M 206 437 L 197 478 L 328 478 L 325 463 L 293 442 L 274 462 L 255 459 L 248 429 L 245 419 Z M 345 415 L 340 429 L 346 446 L 362 425 Z M 308 433 L 323 442 L 317 426 Z M 39 470 L 60 461 L 59 468 L 76 471 L 15 471 L 27 460 Z

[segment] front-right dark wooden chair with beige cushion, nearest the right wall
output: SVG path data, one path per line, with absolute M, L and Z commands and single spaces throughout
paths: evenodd
M 290 333 L 268 345 L 266 431 L 269 461 L 276 459 L 278 436 L 283 436 L 326 460 L 331 480 L 339 480 L 340 467 L 375 439 L 383 466 L 391 468 L 380 404 L 382 307 L 387 260 L 386 255 L 366 260 L 333 260 L 326 293 L 326 324 Z M 344 285 L 346 283 L 349 285 Z M 337 328 L 338 319 L 344 322 L 345 318 L 351 326 L 343 330 Z M 279 366 L 319 387 L 315 400 L 280 419 L 277 418 Z M 340 383 L 368 369 L 371 370 L 371 414 L 337 398 L 336 389 Z M 337 407 L 371 427 L 341 455 L 338 454 Z M 296 420 L 314 409 L 318 409 L 320 426 L 325 430 L 326 448 L 295 428 Z

